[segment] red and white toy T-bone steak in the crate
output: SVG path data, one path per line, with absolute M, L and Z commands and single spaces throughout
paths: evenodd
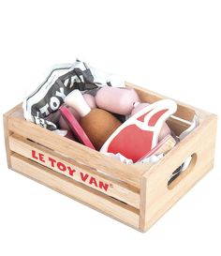
M 100 152 L 120 153 L 125 158 L 137 162 L 155 147 L 160 129 L 176 109 L 176 103 L 170 99 L 162 99 L 148 105 L 117 128 Z

